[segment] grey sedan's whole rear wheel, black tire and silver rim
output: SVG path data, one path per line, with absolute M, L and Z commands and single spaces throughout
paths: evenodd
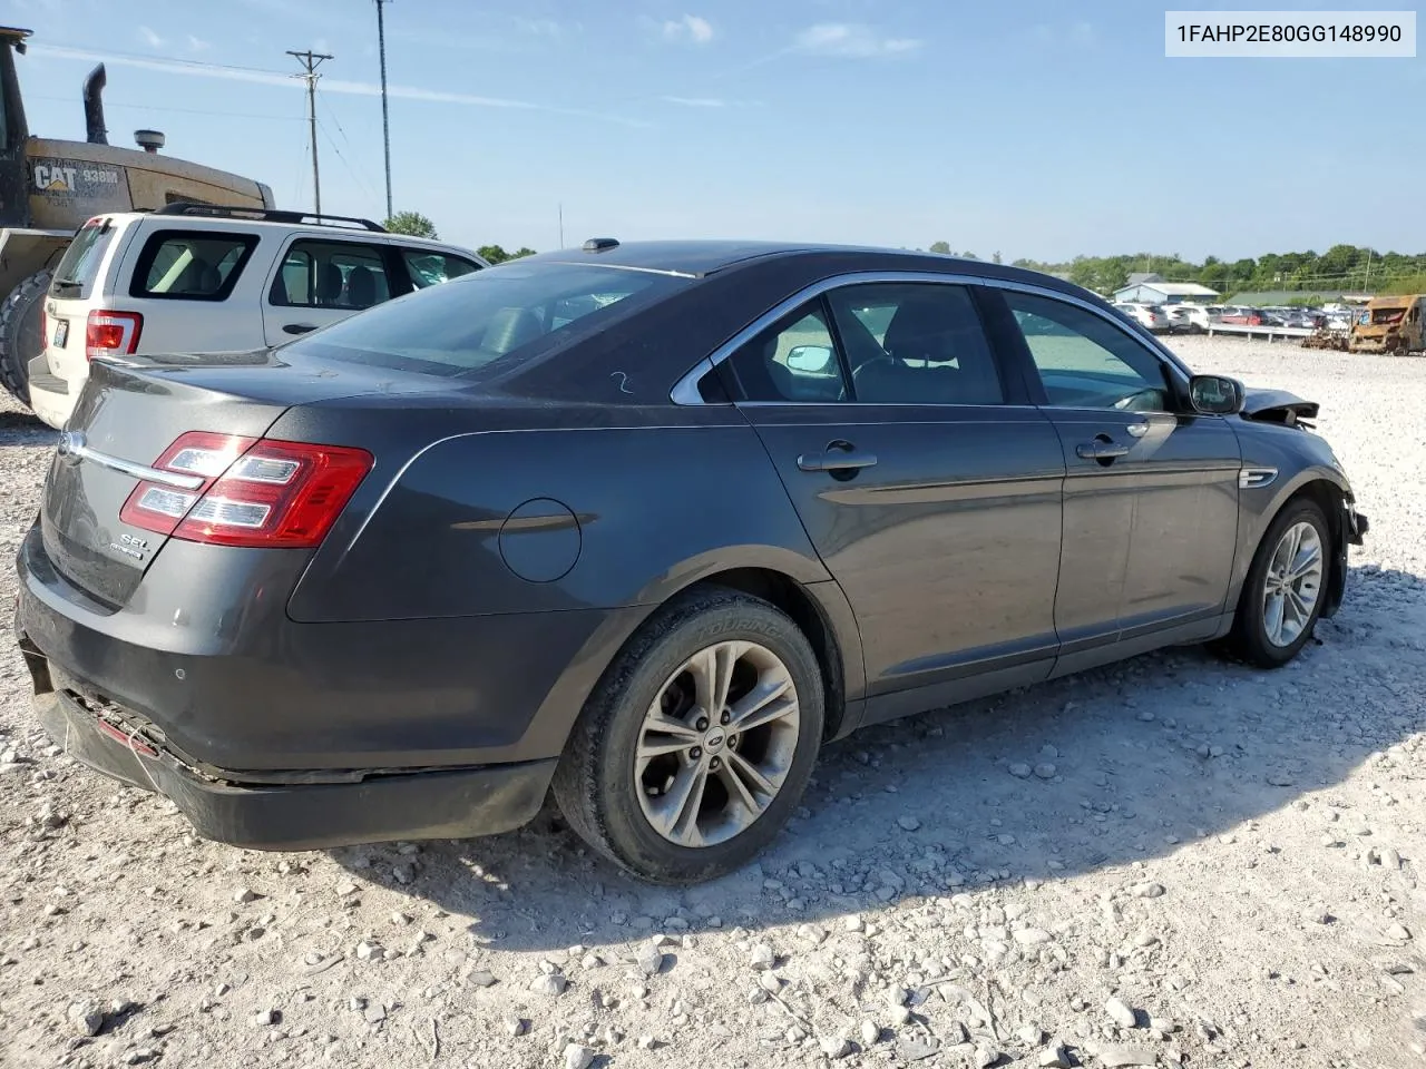
M 656 884 L 732 872 L 791 817 L 821 745 L 821 668 L 767 601 L 660 610 L 605 671 L 555 773 L 569 825 Z

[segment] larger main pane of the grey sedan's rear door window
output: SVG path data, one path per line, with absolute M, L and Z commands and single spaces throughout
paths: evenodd
M 827 295 L 863 405 L 1002 405 L 980 314 L 960 285 L 876 282 Z

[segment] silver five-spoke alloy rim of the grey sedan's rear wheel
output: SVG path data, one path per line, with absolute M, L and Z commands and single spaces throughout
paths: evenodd
M 800 720 L 791 673 L 767 647 L 724 641 L 689 657 L 639 728 L 633 775 L 649 825 L 690 848 L 746 831 L 791 770 Z

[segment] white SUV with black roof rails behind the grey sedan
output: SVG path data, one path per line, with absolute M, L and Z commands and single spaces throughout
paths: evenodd
M 96 356 L 270 348 L 483 267 L 366 220 L 198 204 L 96 215 L 50 282 L 30 408 L 63 428 Z

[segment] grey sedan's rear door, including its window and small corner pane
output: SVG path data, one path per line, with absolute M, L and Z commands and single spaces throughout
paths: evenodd
M 965 286 L 834 286 L 723 366 L 856 613 L 870 720 L 1048 674 L 1064 460 Z

